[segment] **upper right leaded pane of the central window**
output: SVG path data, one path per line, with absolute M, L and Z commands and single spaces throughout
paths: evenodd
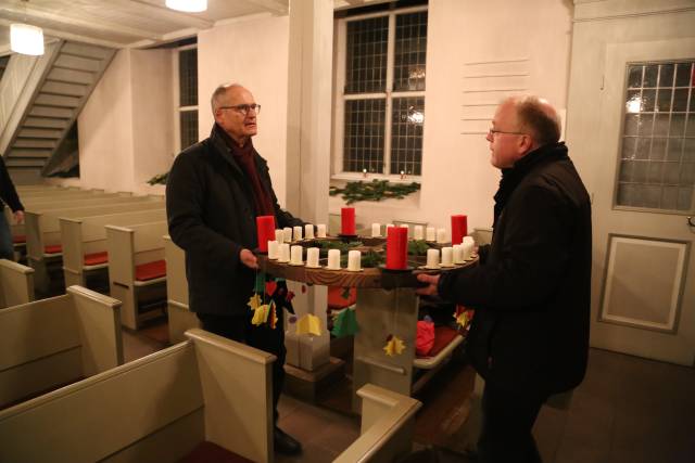
M 400 14 L 395 18 L 393 90 L 425 90 L 427 12 Z

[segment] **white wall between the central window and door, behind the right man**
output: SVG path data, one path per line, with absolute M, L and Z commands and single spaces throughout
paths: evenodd
M 431 0 L 429 3 L 422 188 L 403 201 L 356 203 L 358 221 L 426 221 L 450 227 L 467 214 L 469 230 L 490 227 L 500 172 L 489 162 L 484 131 L 494 105 L 507 92 L 471 89 L 526 88 L 564 108 L 569 70 L 571 1 Z M 518 63 L 490 63 L 521 60 Z M 337 65 L 337 64 L 336 64 Z M 522 78 L 471 79 L 470 75 L 516 73 Z M 466 92 L 465 92 L 466 91 Z M 510 92 L 513 93 L 513 92 Z M 463 131 L 478 133 L 462 134 Z M 570 146 L 571 154 L 571 146 Z M 342 202 L 331 198 L 331 213 Z

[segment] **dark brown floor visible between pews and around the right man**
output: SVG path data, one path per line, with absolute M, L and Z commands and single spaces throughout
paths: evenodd
M 162 324 L 124 332 L 126 361 L 166 347 L 165 333 Z M 452 363 L 417 395 L 425 403 L 417 447 L 460 451 L 468 445 L 472 381 L 470 368 Z M 330 462 L 348 448 L 359 434 L 358 419 L 344 410 L 349 390 L 349 384 L 337 385 L 334 397 L 329 394 L 319 406 L 283 396 L 279 426 L 299 438 L 305 452 L 276 461 Z M 592 349 L 570 409 L 544 407 L 534 435 L 546 463 L 694 462 L 695 369 Z

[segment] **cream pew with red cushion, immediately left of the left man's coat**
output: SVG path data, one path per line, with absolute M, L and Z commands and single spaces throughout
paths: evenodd
M 131 330 L 148 318 L 138 309 L 139 303 L 166 297 L 166 221 L 128 228 L 106 226 L 111 295 L 123 301 L 121 322 Z

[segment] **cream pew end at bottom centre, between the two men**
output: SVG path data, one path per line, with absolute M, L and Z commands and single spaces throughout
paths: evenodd
M 333 462 L 394 462 L 413 449 L 415 414 L 422 406 L 410 397 L 374 384 L 357 390 L 362 398 L 359 437 Z

